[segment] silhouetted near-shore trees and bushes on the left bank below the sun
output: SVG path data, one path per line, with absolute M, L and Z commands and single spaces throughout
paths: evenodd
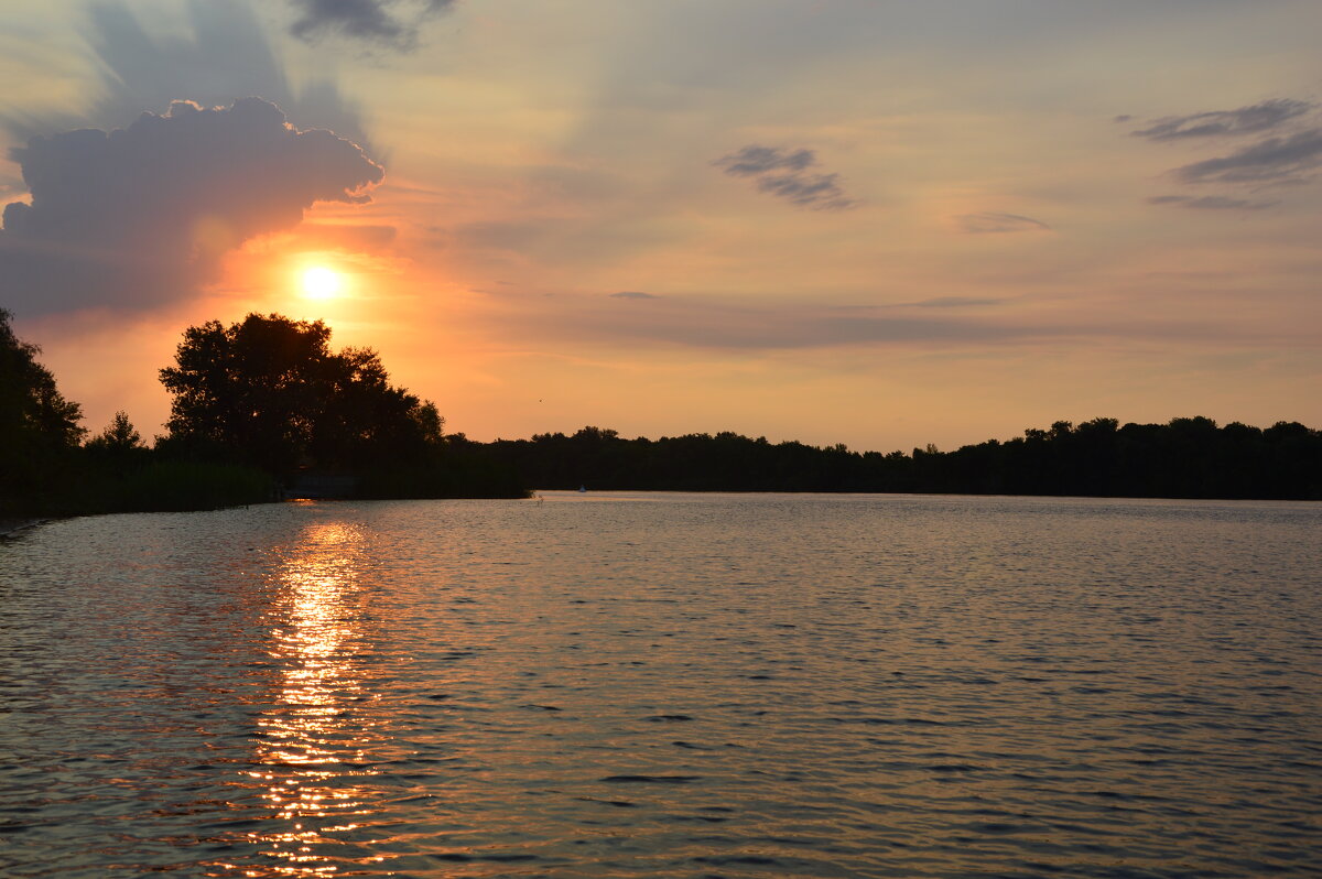
M 148 445 L 124 412 L 89 438 L 36 345 L 0 309 L 0 518 L 196 510 L 296 493 L 340 475 L 353 497 L 524 497 L 485 449 L 443 435 L 430 401 L 390 383 L 370 349 L 329 346 L 321 321 L 249 315 L 190 326 L 167 432 Z

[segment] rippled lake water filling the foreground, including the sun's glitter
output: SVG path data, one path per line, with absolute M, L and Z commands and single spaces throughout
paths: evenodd
M 0 542 L 0 875 L 1322 875 L 1319 526 L 592 493 L 54 522 Z

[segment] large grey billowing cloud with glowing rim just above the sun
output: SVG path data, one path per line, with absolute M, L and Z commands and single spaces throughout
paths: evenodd
M 11 152 L 30 204 L 4 209 L 0 301 L 20 313 L 147 309 L 209 280 L 221 254 L 297 225 L 317 201 L 362 202 L 383 171 L 259 98 L 177 102 L 128 128 L 33 137 Z

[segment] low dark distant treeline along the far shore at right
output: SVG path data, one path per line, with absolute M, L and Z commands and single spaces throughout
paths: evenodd
M 1207 418 L 1125 426 L 1096 418 L 908 455 L 730 432 L 623 439 L 596 427 L 488 448 L 545 489 L 1322 500 L 1322 432 L 1294 422 L 1261 430 Z

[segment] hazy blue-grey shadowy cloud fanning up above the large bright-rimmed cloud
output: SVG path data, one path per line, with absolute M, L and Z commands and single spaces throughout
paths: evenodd
M 3 124 L 22 143 L 79 127 L 114 128 L 144 110 L 164 111 L 173 100 L 204 107 L 260 96 L 278 104 L 300 128 L 328 128 L 377 155 L 360 110 L 330 79 L 293 89 L 246 3 L 193 0 L 184 26 L 169 36 L 148 32 L 119 0 L 89 7 L 87 48 L 100 73 L 89 106 L 78 112 L 7 112 Z

